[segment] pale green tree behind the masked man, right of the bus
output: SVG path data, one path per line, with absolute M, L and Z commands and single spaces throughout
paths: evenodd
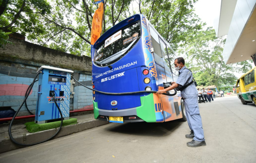
M 195 72 L 198 85 L 234 85 L 237 77 L 233 72 L 246 72 L 252 66 L 247 61 L 226 65 L 222 51 L 226 39 L 217 38 L 212 27 L 207 30 L 196 31 L 193 37 L 183 44 L 181 53 L 186 53 L 188 67 Z M 239 67 L 238 65 L 243 65 Z

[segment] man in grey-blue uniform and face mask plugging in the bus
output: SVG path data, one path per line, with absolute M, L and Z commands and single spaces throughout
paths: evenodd
M 182 88 L 192 82 L 192 72 L 185 67 L 184 58 L 178 57 L 174 61 L 174 65 L 175 70 L 179 71 L 177 81 L 172 82 L 172 86 L 157 91 L 158 94 L 163 94 L 164 92 L 173 90 L 177 87 Z M 188 147 L 200 147 L 206 145 L 197 96 L 197 90 L 194 83 L 190 84 L 187 88 L 181 91 L 181 97 L 184 99 L 188 126 L 191 129 L 191 134 L 186 134 L 185 136 L 186 138 L 193 139 L 187 143 Z

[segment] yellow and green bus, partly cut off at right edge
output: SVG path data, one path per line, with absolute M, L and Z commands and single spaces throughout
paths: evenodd
M 256 67 L 242 75 L 236 84 L 237 96 L 242 104 L 254 103 L 256 105 Z

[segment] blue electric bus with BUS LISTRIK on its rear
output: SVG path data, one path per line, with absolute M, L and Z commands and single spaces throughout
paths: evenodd
M 179 91 L 173 96 L 147 92 L 118 95 L 158 91 L 165 83 L 176 81 L 177 75 L 172 73 L 175 58 L 173 49 L 142 14 L 106 31 L 92 49 L 93 89 L 117 94 L 93 91 L 94 118 L 118 123 L 187 121 Z

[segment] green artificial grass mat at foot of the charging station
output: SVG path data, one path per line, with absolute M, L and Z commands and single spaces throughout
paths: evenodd
M 38 132 L 38 131 L 44 131 L 44 130 L 49 130 L 49 129 L 54 129 L 60 127 L 61 121 L 56 121 L 56 122 L 49 122 L 45 124 L 36 124 L 35 122 L 27 122 L 25 123 L 26 129 L 31 132 Z M 73 125 L 77 124 L 77 119 L 76 118 L 70 118 L 69 120 L 63 120 L 62 126 L 67 126 L 67 125 Z

